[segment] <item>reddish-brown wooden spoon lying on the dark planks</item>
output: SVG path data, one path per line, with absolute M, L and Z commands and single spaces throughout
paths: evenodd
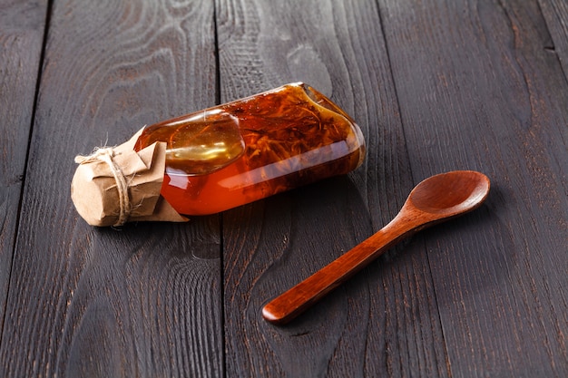
M 271 323 L 288 323 L 398 241 L 478 208 L 488 193 L 489 179 L 472 170 L 455 170 L 425 179 L 410 192 L 397 217 L 387 226 L 270 301 L 262 309 L 262 316 Z

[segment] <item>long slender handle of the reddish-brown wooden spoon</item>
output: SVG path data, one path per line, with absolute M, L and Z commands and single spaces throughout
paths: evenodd
M 387 226 L 368 237 L 357 247 L 272 299 L 262 309 L 262 316 L 270 323 L 279 325 L 288 323 L 350 276 L 363 267 L 367 267 L 389 247 L 414 233 L 416 226 L 408 226 L 408 224 L 407 219 L 405 221 L 400 217 L 394 218 Z

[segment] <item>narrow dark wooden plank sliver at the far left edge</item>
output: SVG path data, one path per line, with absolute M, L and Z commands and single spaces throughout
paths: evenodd
M 46 2 L 37 1 L 0 4 L 0 319 L 12 267 L 46 9 Z

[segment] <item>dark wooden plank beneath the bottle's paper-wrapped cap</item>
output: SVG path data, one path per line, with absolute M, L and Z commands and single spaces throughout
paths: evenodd
M 54 1 L 2 376 L 220 376 L 220 226 L 92 228 L 73 156 L 214 104 L 213 6 Z

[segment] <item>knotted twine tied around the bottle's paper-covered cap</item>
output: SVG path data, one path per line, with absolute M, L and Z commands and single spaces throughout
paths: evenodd
M 112 147 L 104 147 L 95 150 L 93 154 L 89 156 L 75 156 L 75 163 L 84 164 L 96 160 L 101 160 L 109 166 L 111 172 L 113 173 L 114 181 L 116 181 L 116 189 L 118 190 L 119 199 L 119 216 L 116 223 L 113 224 L 113 227 L 119 227 L 126 223 L 126 221 L 128 220 L 132 205 L 130 202 L 130 197 L 128 195 L 128 182 L 126 181 L 121 168 L 113 160 L 114 156 L 115 151 Z

